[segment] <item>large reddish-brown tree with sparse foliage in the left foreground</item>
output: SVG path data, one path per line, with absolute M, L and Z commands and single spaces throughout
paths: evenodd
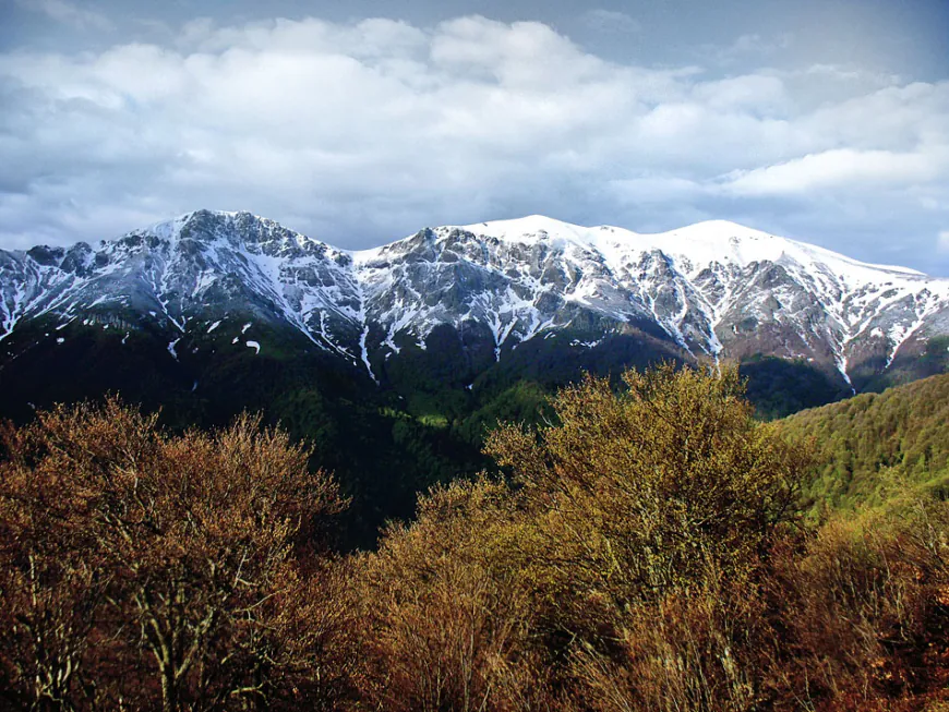
M 96 639 L 118 655 L 113 697 L 154 691 L 167 712 L 264 709 L 277 677 L 313 663 L 287 659 L 310 652 L 291 640 L 297 603 L 312 589 L 297 555 L 319 553 L 326 519 L 345 506 L 333 479 L 310 469 L 310 455 L 285 433 L 261 430 L 257 418 L 175 436 L 115 399 L 56 408 L 9 433 L 4 595 L 16 620 L 41 619 L 73 641 L 43 662 L 50 654 L 28 644 L 36 633 L 25 623 L 8 627 L 28 632 L 7 656 L 16 678 L 75 669 Z M 95 630 L 70 619 L 74 600 L 86 602 L 83 622 Z M 108 668 L 99 665 L 99 685 Z M 137 689 L 121 685 L 130 671 L 141 671 Z M 77 705 L 65 687 L 29 695 Z

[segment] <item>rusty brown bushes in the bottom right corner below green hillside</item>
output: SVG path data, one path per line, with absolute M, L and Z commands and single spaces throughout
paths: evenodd
M 785 696 L 923 709 L 949 681 L 949 503 L 910 496 L 889 515 L 831 520 L 774 568 Z

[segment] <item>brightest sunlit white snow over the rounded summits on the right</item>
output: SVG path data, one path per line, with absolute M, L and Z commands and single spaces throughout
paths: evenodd
M 567 255 L 598 255 L 615 283 L 634 295 L 639 288 L 640 305 L 654 304 L 656 298 L 670 303 L 671 287 L 674 306 L 656 313 L 657 322 L 693 351 L 721 353 L 723 340 L 738 340 L 734 337 L 743 323 L 745 330 L 781 326 L 782 342 L 765 352 L 814 358 L 813 352 L 829 350 L 844 376 L 856 339 L 885 341 L 877 347 L 887 350 L 889 364 L 900 347 L 949 302 L 949 280 L 861 263 L 724 220 L 658 234 L 609 226 L 584 228 L 540 216 L 461 229 L 507 242 L 546 243 Z M 644 270 L 647 255 L 666 257 L 670 269 Z M 755 323 L 747 324 L 748 319 Z

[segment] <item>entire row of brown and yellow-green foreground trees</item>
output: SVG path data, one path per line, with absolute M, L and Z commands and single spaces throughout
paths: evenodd
M 3 433 L 0 686 L 39 710 L 937 710 L 949 504 L 802 522 L 733 370 L 587 378 L 373 552 L 311 452 L 111 400 Z

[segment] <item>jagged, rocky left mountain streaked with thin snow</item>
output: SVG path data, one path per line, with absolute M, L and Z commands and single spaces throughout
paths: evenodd
M 86 256 L 79 268 L 75 252 Z M 352 355 L 334 333 L 360 313 L 348 254 L 247 213 L 201 210 L 95 248 L 2 254 L 0 339 L 22 318 L 67 322 L 95 307 L 151 316 L 179 333 L 250 311 Z

